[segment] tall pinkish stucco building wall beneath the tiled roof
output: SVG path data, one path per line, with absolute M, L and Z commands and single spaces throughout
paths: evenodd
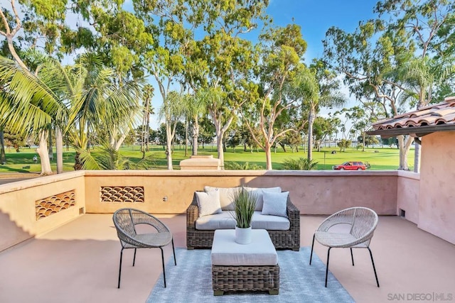
M 422 137 L 419 228 L 455 243 L 455 132 Z

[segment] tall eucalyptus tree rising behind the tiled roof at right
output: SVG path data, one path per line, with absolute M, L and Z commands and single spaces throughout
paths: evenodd
M 429 57 L 441 60 L 441 64 L 451 56 L 454 11 L 455 3 L 448 0 L 379 1 L 375 6 L 378 18 L 360 22 L 354 33 L 339 28 L 328 30 L 325 59 L 331 67 L 343 72 L 353 94 L 363 91 L 358 87 L 368 85 L 387 116 L 400 114 L 407 80 L 392 71 L 406 65 L 412 57 Z M 421 99 L 414 105 L 423 106 L 427 100 Z M 413 141 L 410 136 L 398 136 L 400 170 L 408 169 L 407 151 Z

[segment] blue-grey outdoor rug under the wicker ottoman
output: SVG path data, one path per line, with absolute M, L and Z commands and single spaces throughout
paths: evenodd
M 250 302 L 354 302 L 336 278 L 328 273 L 324 287 L 326 265 L 313 254 L 311 266 L 309 247 L 277 250 L 279 294 L 268 292 L 229 292 L 213 296 L 210 249 L 176 248 L 177 266 L 173 257 L 166 264 L 166 285 L 163 274 L 156 282 L 146 303 L 250 303 Z

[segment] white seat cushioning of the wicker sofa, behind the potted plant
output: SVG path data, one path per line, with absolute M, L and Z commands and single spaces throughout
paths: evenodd
M 223 211 L 220 214 L 201 216 L 196 220 L 196 229 L 213 231 L 216 229 L 235 229 L 233 211 Z M 287 231 L 291 226 L 289 220 L 282 216 L 263 215 L 255 211 L 251 222 L 253 229 L 267 229 L 270 231 Z

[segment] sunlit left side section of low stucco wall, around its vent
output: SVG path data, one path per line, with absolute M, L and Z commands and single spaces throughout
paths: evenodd
M 76 204 L 69 209 L 36 220 L 36 200 L 75 190 Z M 0 251 L 33 236 L 52 230 L 79 216 L 84 207 L 83 172 L 33 178 L 0 185 Z

